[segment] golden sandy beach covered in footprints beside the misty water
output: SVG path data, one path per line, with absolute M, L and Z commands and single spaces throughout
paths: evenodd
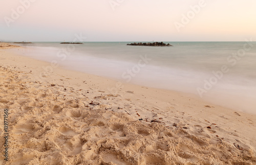
M 9 109 L 9 159 L 1 154 L 0 164 L 256 164 L 255 115 L 61 67 L 45 72 L 49 63 L 8 49 L 0 59 L 1 153 Z

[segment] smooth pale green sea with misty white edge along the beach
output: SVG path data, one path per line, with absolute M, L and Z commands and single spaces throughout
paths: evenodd
M 23 56 L 121 82 L 194 94 L 256 114 L 256 42 L 34 42 Z M 54 69 L 54 68 L 53 68 Z

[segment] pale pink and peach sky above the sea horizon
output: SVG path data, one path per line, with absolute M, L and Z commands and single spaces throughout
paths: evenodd
M 255 9 L 255 0 L 0 0 L 0 41 L 255 41 Z

